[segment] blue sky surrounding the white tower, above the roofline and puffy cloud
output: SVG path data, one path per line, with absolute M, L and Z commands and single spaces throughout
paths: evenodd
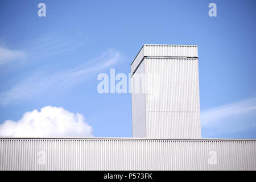
M 38 16 L 40 2 L 46 17 Z M 217 17 L 208 15 L 211 2 Z M 143 44 L 197 44 L 202 137 L 256 138 L 255 6 L 1 1 L 0 123 L 55 106 L 92 126 L 94 137 L 131 137 L 131 95 L 99 94 L 97 75 L 128 75 Z

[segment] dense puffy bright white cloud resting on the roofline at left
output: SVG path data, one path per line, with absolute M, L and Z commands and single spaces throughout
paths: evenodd
M 26 112 L 19 121 L 6 120 L 0 125 L 1 137 L 93 137 L 92 131 L 82 114 L 52 106 Z

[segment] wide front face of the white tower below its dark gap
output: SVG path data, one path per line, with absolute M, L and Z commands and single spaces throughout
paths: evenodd
M 143 62 L 147 137 L 201 138 L 198 59 L 145 58 Z

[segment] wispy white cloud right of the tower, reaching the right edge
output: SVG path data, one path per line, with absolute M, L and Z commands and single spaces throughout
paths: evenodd
M 256 98 L 204 110 L 201 112 L 201 125 L 207 137 L 256 129 Z

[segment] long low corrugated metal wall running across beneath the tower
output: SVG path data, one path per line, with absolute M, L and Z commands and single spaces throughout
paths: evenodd
M 0 138 L 0 170 L 256 170 L 255 140 Z

